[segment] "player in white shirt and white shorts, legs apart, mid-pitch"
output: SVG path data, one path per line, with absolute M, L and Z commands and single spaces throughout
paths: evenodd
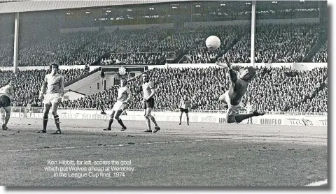
M 118 89 L 117 102 L 113 105 L 112 113 L 110 116 L 109 126 L 104 128 L 104 130 L 111 130 L 113 123 L 113 118 L 118 121 L 121 128 L 121 131 L 126 130 L 126 126 L 123 124 L 123 121 L 120 119 L 121 113 L 125 110 L 125 105 L 132 100 L 132 92 L 127 87 L 127 81 L 125 79 L 120 80 L 120 89 Z

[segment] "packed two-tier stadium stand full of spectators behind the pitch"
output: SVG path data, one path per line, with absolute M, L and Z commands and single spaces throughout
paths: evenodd
M 218 2 L 214 1 L 212 3 Z M 304 21 L 307 15 L 317 18 L 317 4 L 313 2 L 313 7 L 315 7 L 311 8 L 311 5 L 309 7 L 311 2 L 302 3 L 302 5 L 297 3 L 295 4 L 296 10 L 288 10 L 286 6 L 293 6 L 290 3 L 288 5 L 281 4 L 279 7 L 276 4 L 272 4 L 273 11 L 276 10 L 276 14 L 273 14 L 270 10 L 270 12 L 268 10 L 266 12 L 261 10 L 257 12 L 257 19 L 272 20 L 277 18 L 288 19 L 289 17 L 303 19 L 300 20 L 301 22 L 293 24 L 273 24 L 272 22 L 270 24 L 258 24 L 255 28 L 255 62 L 265 64 L 302 62 L 308 54 L 312 55 L 307 62 L 327 62 L 328 42 L 321 41 L 325 33 L 325 23 L 307 23 L 307 21 Z M 186 3 L 186 8 L 187 4 L 188 2 Z M 266 9 L 269 9 L 270 5 L 268 7 L 266 5 Z M 183 22 L 189 22 L 189 20 L 193 22 L 234 21 L 251 17 L 251 7 L 248 4 L 234 5 L 232 10 L 225 10 L 224 6 L 225 4 L 221 4 L 221 8 L 216 7 L 216 5 L 213 7 L 216 8 L 216 11 L 217 9 L 218 11 L 221 10 L 217 15 L 213 15 L 209 10 L 204 10 L 205 15 L 200 15 L 197 10 L 193 10 L 195 13 L 192 12 L 192 18 L 185 18 L 186 20 Z M 299 9 L 300 6 L 302 8 Z M 151 10 L 148 9 L 151 6 L 145 6 L 145 8 L 147 11 Z M 162 6 L 162 8 L 165 8 L 165 6 Z M 157 9 L 159 8 L 155 7 L 155 11 Z M 55 15 L 66 14 L 65 16 L 59 16 L 61 18 L 59 19 L 59 27 L 55 28 L 60 28 L 60 26 L 64 25 L 63 27 L 66 31 L 66 28 L 77 27 L 77 24 L 78 27 L 86 24 L 85 27 L 87 28 L 97 27 L 95 31 L 69 30 L 64 32 L 61 29 L 53 29 L 52 25 L 55 23 L 52 23 L 49 24 L 49 29 L 45 27 L 45 32 L 43 33 L 46 34 L 45 36 L 36 35 L 34 38 L 30 38 L 34 35 L 35 26 L 27 29 L 28 32 L 22 30 L 23 33 L 20 34 L 18 49 L 18 66 L 48 66 L 55 61 L 61 66 L 163 65 L 170 63 L 170 61 L 167 61 L 168 52 L 176 53 L 172 63 L 181 65 L 223 62 L 220 57 L 230 57 L 232 63 L 235 64 L 251 62 L 251 24 L 249 23 L 212 26 L 198 24 L 197 27 L 181 27 L 179 17 L 183 16 L 183 14 L 186 15 L 188 11 L 186 13 L 182 11 L 178 16 L 172 17 L 170 13 L 164 11 L 165 9 L 162 9 L 160 10 L 162 13 L 160 11 L 157 12 L 158 15 L 164 18 L 160 20 L 162 26 L 165 23 L 175 22 L 173 27 L 116 28 L 109 31 L 107 27 L 104 29 L 107 23 L 99 23 L 105 21 L 108 17 L 102 16 L 102 11 L 106 12 L 104 15 L 111 13 L 111 10 L 109 13 L 107 10 L 109 8 L 103 8 L 103 10 L 99 10 L 101 13 L 97 12 L 99 16 L 92 17 L 89 14 L 93 13 L 93 10 L 85 10 L 85 12 L 83 10 L 62 10 L 59 13 L 52 13 Z M 126 21 L 126 17 L 118 17 L 117 21 L 116 17 L 113 16 L 112 21 L 111 16 L 110 27 L 113 27 L 113 24 L 123 26 L 123 24 L 127 25 L 132 22 L 131 20 L 137 17 L 132 16 L 131 11 L 132 9 L 127 7 L 120 8 L 120 14 L 129 14 L 127 16 L 129 20 Z M 174 13 L 175 10 L 169 11 Z M 231 12 L 235 16 L 230 15 Z M 74 15 L 78 14 L 78 16 L 72 16 L 73 13 L 75 13 Z M 138 11 L 133 14 L 141 15 L 142 13 Z M 147 13 L 144 12 L 144 14 Z M 22 15 L 21 17 L 25 17 L 25 14 L 22 13 Z M 97 18 L 94 18 L 96 16 Z M 29 15 L 27 17 L 30 18 Z M 141 17 L 147 18 L 146 15 L 141 15 Z M 29 19 L 29 21 L 34 22 L 38 16 L 31 18 L 33 19 Z M 124 19 L 124 23 L 120 22 Z M 139 24 L 141 26 L 141 24 L 151 24 L 151 22 L 157 21 L 158 19 L 155 15 L 155 18 L 149 17 L 148 20 L 137 20 L 137 22 L 133 22 L 133 25 L 137 26 Z M 62 22 L 64 24 L 61 24 Z M 109 25 L 107 26 L 109 27 Z M 0 67 L 13 66 L 13 33 L 0 32 Z M 205 39 L 211 35 L 218 36 L 221 39 L 219 50 L 208 50 L 204 44 Z M 312 49 L 316 45 L 319 46 L 318 50 Z M 248 87 L 248 94 L 244 97 L 243 103 L 246 104 L 246 100 L 251 98 L 253 107 L 256 110 L 326 112 L 326 72 L 327 68 L 315 68 L 314 70 L 305 71 L 292 70 L 290 68 L 258 68 L 258 75 Z M 20 70 L 14 74 L 12 71 L 3 70 L 1 72 L 0 87 L 9 78 L 15 79 L 16 91 L 13 97 L 13 105 L 25 106 L 30 104 L 39 106 L 41 102 L 36 99 L 32 100 L 31 97 L 38 94 L 38 89 L 42 84 L 45 73 L 47 73 L 46 70 Z M 66 82 L 83 77 L 87 73 L 87 69 L 62 70 L 62 75 L 66 77 Z M 220 68 L 156 68 L 149 71 L 149 73 L 158 90 L 156 109 L 176 109 L 177 103 L 183 94 L 190 96 L 195 110 L 225 109 L 221 103 L 218 103 L 216 98 L 223 94 L 225 89 L 228 89 L 229 77 L 227 70 Z M 139 80 L 139 77 L 134 77 L 130 80 L 129 86 L 134 94 L 134 100 L 127 108 L 141 108 L 141 95 L 137 91 L 140 85 L 141 80 Z M 29 90 L 27 90 L 28 86 Z M 113 106 L 117 88 L 118 86 L 114 86 L 85 98 L 64 101 L 60 106 L 95 109 L 104 107 L 109 109 Z

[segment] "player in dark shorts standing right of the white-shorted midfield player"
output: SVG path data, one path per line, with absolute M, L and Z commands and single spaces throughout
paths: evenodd
M 155 96 L 155 88 L 153 82 L 149 80 L 149 76 L 147 73 L 142 74 L 142 80 L 144 81 L 144 84 L 142 84 L 142 91 L 144 91 L 144 100 L 142 101 L 143 107 L 144 107 L 144 115 L 146 119 L 147 124 L 147 130 L 144 132 L 149 133 L 156 133 L 161 128 L 158 126 L 158 124 L 155 121 L 155 118 L 151 115 L 151 112 L 154 108 L 154 96 Z M 151 129 L 151 121 L 155 125 L 155 129 L 152 131 Z

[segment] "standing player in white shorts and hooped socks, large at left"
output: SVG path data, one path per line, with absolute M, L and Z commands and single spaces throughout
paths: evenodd
M 58 64 L 50 64 L 51 73 L 45 75 L 43 85 L 40 91 L 40 100 L 43 101 L 43 130 L 37 133 L 47 133 L 48 114 L 50 108 L 55 119 L 56 132 L 54 134 L 61 134 L 59 126 L 59 117 L 57 115 L 57 107 L 62 102 L 64 95 L 64 77 L 58 73 Z

